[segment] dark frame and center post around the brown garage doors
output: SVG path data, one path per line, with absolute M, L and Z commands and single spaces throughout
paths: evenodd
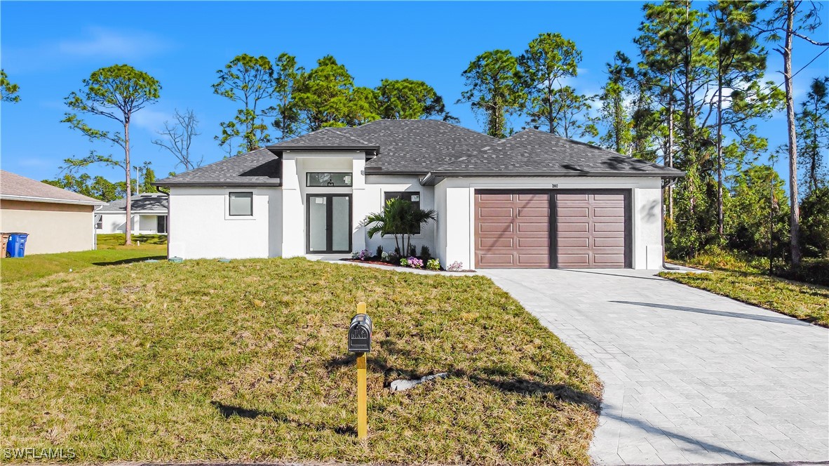
M 548 265 L 549 269 L 558 269 L 559 268 L 559 258 L 558 258 L 558 228 L 556 222 L 556 194 L 622 194 L 624 197 L 624 268 L 625 269 L 633 269 L 633 189 L 631 188 L 611 188 L 611 189 L 602 189 L 602 188 L 592 188 L 592 187 L 584 187 L 584 188 L 564 188 L 564 189 L 539 189 L 537 187 L 528 187 L 528 188 L 486 188 L 486 187 L 476 187 L 473 192 L 473 208 L 478 208 L 478 199 L 475 197 L 478 194 L 549 194 L 550 197 L 550 264 Z M 473 213 L 473 222 L 474 222 L 474 215 Z M 474 236 L 473 240 L 475 242 L 478 241 L 478 226 L 473 223 L 474 228 Z M 478 267 L 478 255 L 475 254 L 475 249 L 473 248 L 473 254 L 475 255 L 475 266 Z M 486 267 L 483 267 L 484 269 Z

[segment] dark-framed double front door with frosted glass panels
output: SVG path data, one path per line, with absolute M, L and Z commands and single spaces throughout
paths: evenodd
M 351 195 L 308 194 L 308 254 L 351 252 Z

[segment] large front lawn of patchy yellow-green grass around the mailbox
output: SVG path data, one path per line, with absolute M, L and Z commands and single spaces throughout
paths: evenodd
M 367 444 L 346 352 L 359 301 L 375 325 Z M 598 378 L 484 277 L 137 262 L 5 284 L 2 303 L 4 448 L 72 448 L 76 462 L 589 464 Z

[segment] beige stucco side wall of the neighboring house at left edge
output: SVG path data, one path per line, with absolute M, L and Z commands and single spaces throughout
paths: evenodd
M 95 249 L 93 206 L 0 201 L 0 231 L 28 233 L 26 254 Z

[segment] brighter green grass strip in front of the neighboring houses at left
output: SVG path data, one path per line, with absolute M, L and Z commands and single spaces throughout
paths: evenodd
M 90 267 L 166 258 L 167 236 L 133 235 L 133 240 L 141 240 L 141 245 L 125 246 L 124 235 L 98 235 L 98 250 L 0 258 L 0 281 L 6 285 Z

